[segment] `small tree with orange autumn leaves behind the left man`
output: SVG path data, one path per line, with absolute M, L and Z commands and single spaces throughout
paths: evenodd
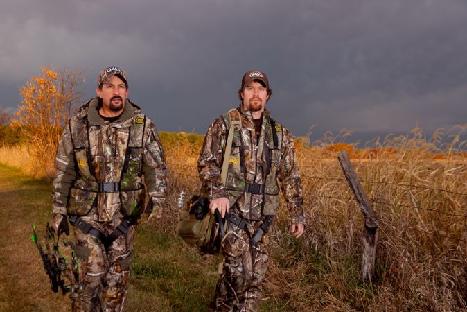
M 13 124 L 21 129 L 35 162 L 36 173 L 51 171 L 60 135 L 81 100 L 78 86 L 82 71 L 55 71 L 42 67 L 42 76 L 31 77 L 19 89 L 21 105 Z

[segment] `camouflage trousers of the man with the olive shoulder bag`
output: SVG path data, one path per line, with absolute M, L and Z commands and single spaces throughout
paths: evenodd
M 249 222 L 249 235 L 254 236 L 260 225 Z M 257 311 L 269 261 L 267 239 L 263 236 L 250 248 L 248 234 L 236 225 L 232 227 L 222 241 L 224 267 L 209 311 Z

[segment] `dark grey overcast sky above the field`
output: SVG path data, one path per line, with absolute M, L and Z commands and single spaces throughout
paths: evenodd
M 294 135 L 347 141 L 467 123 L 466 0 L 3 0 L 0 108 L 40 67 L 127 71 L 163 131 L 204 133 L 267 73 L 267 108 Z

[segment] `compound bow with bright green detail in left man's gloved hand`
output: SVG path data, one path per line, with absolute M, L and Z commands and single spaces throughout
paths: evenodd
M 43 237 L 45 249 L 39 241 L 35 225 L 33 225 L 31 241 L 35 243 L 37 250 L 39 250 L 52 291 L 58 293 L 60 288 L 62 295 L 69 292 L 76 293 L 81 286 L 75 245 L 71 241 L 60 240 L 60 236 L 55 239 L 49 223 L 46 225 L 46 233 Z M 64 251 L 60 250 L 60 241 L 65 247 Z

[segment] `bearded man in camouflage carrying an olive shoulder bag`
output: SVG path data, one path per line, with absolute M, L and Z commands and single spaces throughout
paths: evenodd
M 247 71 L 238 90 L 242 103 L 211 123 L 198 159 L 211 213 L 218 209 L 229 219 L 229 232 L 221 243 L 222 275 L 210 311 L 258 309 L 269 261 L 267 229 L 279 207 L 279 184 L 290 214 L 290 232 L 297 238 L 303 234 L 296 152 L 290 132 L 265 110 L 271 94 L 265 73 Z M 231 152 L 224 155 L 231 125 Z M 224 157 L 228 170 L 222 184 Z

